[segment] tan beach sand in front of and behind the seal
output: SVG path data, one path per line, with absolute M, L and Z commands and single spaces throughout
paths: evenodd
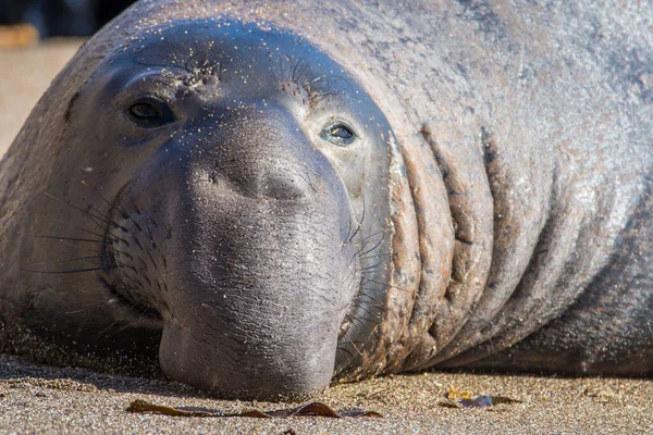
M 78 44 L 49 41 L 34 49 L 0 51 L 0 156 Z M 438 403 L 449 386 L 522 402 L 492 409 L 443 408 Z M 382 413 L 382 419 L 213 419 L 125 412 L 137 398 L 225 412 L 297 405 L 221 401 L 175 383 L 0 356 L 0 433 L 653 433 L 653 380 L 426 373 L 336 385 L 316 397 L 336 410 L 362 408 Z

